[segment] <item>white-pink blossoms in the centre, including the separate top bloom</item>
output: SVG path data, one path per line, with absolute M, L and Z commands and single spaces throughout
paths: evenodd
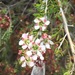
M 41 21 L 43 23 L 40 25 Z M 45 27 L 50 23 L 44 17 L 35 19 L 34 22 L 37 24 L 34 26 L 35 30 L 42 29 L 42 31 L 44 31 L 46 29 Z M 22 62 L 21 66 L 25 67 L 28 65 L 33 67 L 36 65 L 36 62 L 44 61 L 44 53 L 46 53 L 47 49 L 51 49 L 50 45 L 53 44 L 51 36 L 47 33 L 42 33 L 41 36 L 37 38 L 29 33 L 23 33 L 19 41 L 19 45 L 23 50 L 23 54 L 20 57 L 20 61 Z

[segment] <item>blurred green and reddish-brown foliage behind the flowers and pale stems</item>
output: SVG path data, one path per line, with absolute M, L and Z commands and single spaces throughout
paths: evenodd
M 43 1 L 0 0 L 0 17 L 3 15 L 10 17 L 10 25 L 0 27 L 0 75 L 30 75 L 32 69 L 21 68 L 18 62 L 20 50 L 18 41 L 22 33 L 31 31 L 35 17 L 45 15 Z M 75 44 L 75 0 L 61 0 L 61 2 L 68 24 L 73 24 L 73 27 L 69 27 L 69 31 Z M 67 38 L 58 49 L 65 31 L 57 0 L 48 0 L 46 15 L 51 22 L 48 32 L 55 43 L 51 52 L 46 54 L 46 75 L 70 75 L 74 61 Z

